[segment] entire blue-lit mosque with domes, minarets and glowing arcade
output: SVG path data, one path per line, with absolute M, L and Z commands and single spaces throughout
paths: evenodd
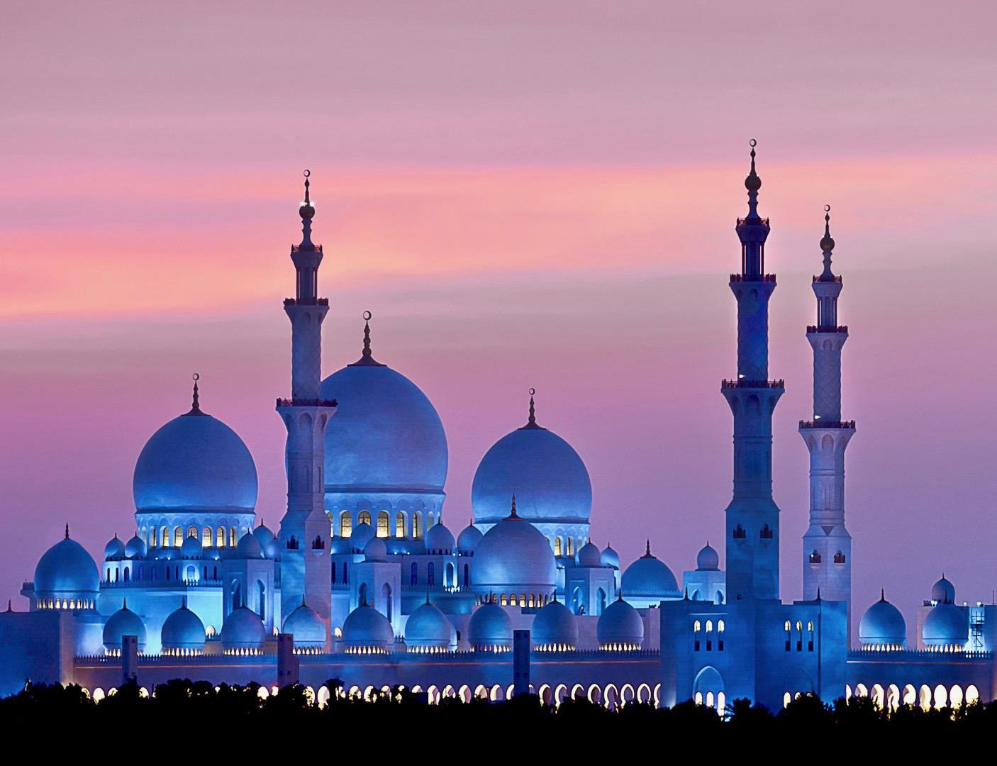
M 444 515 L 443 423 L 415 383 L 375 359 L 369 321 L 359 359 L 322 377 L 329 302 L 319 297 L 306 172 L 295 292 L 283 302 L 292 376 L 290 396 L 276 401 L 287 429 L 279 529 L 257 523 L 253 458 L 201 403 L 195 375 L 189 411 L 138 456 L 135 536 L 112 538 L 98 563 L 67 526 L 23 585 L 27 608 L 0 613 L 0 694 L 30 680 L 78 683 L 99 699 L 125 679 L 148 693 L 188 677 L 256 681 L 261 694 L 297 681 L 319 703 L 395 685 L 430 703 L 532 691 L 553 703 L 694 699 L 720 710 L 738 697 L 778 708 L 801 694 L 869 695 L 882 706 L 993 699 L 997 606 L 959 605 L 944 576 L 917 607 L 916 646 L 884 596 L 862 612 L 860 645 L 849 646 L 844 452 L 855 423 L 841 413 L 848 333 L 837 319 L 830 207 L 807 328 L 814 408 L 800 422 L 811 466 L 797 559 L 804 593 L 782 600 L 772 415 L 784 382 L 768 369 L 777 282 L 765 270 L 770 226 L 758 211 L 754 146 L 729 282 L 737 375 L 720 389 L 734 419 L 723 569 L 707 545 L 680 584 L 650 543 L 626 566 L 591 543 L 585 464 L 537 416 L 532 392 L 525 422 L 510 423 L 482 458 L 473 524 L 455 535 Z

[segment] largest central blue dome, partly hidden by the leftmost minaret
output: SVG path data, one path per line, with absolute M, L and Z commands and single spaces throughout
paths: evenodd
M 447 435 L 426 394 L 364 355 L 322 381 L 339 407 L 325 431 L 326 492 L 443 492 Z

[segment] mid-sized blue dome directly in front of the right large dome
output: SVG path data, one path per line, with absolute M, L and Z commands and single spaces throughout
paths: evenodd
M 479 593 L 549 594 L 556 583 L 554 555 L 533 525 L 512 513 L 489 530 L 478 544 L 471 581 Z

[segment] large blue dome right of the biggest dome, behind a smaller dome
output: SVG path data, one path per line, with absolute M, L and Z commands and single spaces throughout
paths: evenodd
M 513 493 L 526 521 L 588 524 L 592 483 L 585 464 L 571 445 L 536 425 L 532 400 L 529 422 L 499 439 L 475 472 L 475 523 L 504 519 Z

